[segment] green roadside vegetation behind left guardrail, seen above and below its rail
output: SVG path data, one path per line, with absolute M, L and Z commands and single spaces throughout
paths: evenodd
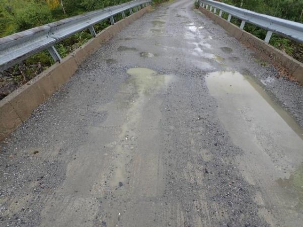
M 0 0 L 0 38 L 125 2 L 129 0 Z M 125 14 L 129 15 L 128 12 Z M 115 16 L 115 21 L 120 19 L 121 15 Z M 96 32 L 100 32 L 109 25 L 109 21 L 103 21 L 94 27 Z M 55 44 L 55 48 L 63 58 L 90 38 L 92 36 L 88 30 L 82 31 Z M 0 100 L 53 63 L 52 57 L 45 50 L 0 72 Z

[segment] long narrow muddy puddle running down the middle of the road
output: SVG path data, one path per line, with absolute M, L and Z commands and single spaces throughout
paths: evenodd
M 159 74 L 149 68 L 129 68 L 127 74 L 129 74 L 128 79 L 121 86 L 114 101 L 106 108 L 109 117 L 104 123 L 104 125 L 111 125 L 112 122 L 116 122 L 121 116 L 121 113 L 120 115 L 117 113 L 117 108 L 119 108 L 117 105 L 128 102 L 128 105 L 123 105 L 126 106 L 123 114 L 125 119 L 121 124 L 120 133 L 117 140 L 111 143 L 111 146 L 114 147 L 115 159 L 109 185 L 114 188 L 127 185 L 126 166 L 136 150 L 138 134 L 135 128 L 137 122 L 141 120 L 142 108 L 148 103 L 149 96 L 156 94 L 162 88 L 166 88 L 173 78 L 172 75 Z M 127 94 L 131 94 L 129 98 L 127 98 Z

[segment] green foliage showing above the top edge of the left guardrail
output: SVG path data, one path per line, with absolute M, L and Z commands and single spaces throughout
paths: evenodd
M 129 0 L 0 0 L 0 37 Z

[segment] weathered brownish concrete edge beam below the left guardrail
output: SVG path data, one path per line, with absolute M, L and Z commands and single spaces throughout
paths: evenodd
M 122 19 L 101 31 L 81 48 L 70 53 L 48 69 L 37 75 L 27 84 L 0 101 L 0 141 L 12 133 L 32 112 L 53 93 L 64 85 L 89 55 L 94 53 L 104 42 L 120 32 L 127 25 L 140 18 L 151 6 Z

